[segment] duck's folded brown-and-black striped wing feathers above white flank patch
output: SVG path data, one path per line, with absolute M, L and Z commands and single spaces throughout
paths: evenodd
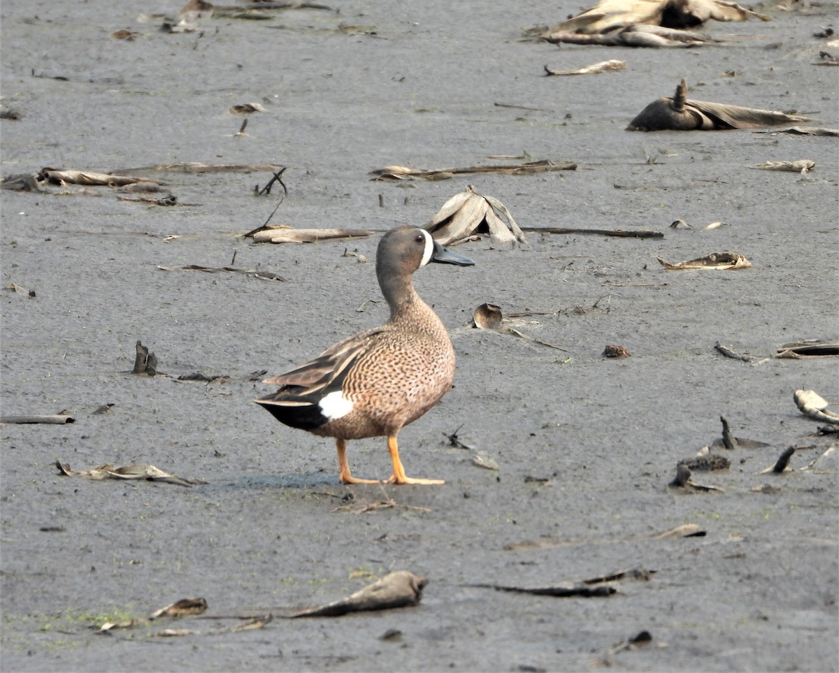
M 326 349 L 314 360 L 303 363 L 290 372 L 265 378 L 263 383 L 281 386 L 279 392 L 290 392 L 288 389 L 294 389 L 296 395 L 311 395 L 326 389 L 334 389 L 335 384 L 346 376 L 347 369 L 352 363 L 362 353 L 367 352 L 377 340 L 378 335 L 384 331 L 383 327 L 374 327 L 372 330 L 351 336 Z

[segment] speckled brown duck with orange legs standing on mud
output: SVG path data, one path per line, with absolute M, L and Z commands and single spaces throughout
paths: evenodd
M 472 266 L 425 229 L 396 227 L 376 251 L 376 277 L 390 318 L 349 336 L 290 372 L 266 378 L 279 389 L 254 399 L 274 418 L 315 436 L 335 439 L 341 483 L 383 483 L 352 476 L 347 441 L 387 437 L 393 475 L 387 483 L 443 484 L 405 475 L 399 430 L 424 415 L 451 389 L 455 351 L 446 326 L 414 290 L 414 272 L 428 263 Z

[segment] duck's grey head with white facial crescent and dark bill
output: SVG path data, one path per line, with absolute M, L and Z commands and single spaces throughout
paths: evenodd
M 446 250 L 420 227 L 396 227 L 378 242 L 376 274 L 379 279 L 409 276 L 430 262 L 473 266 L 472 259 Z

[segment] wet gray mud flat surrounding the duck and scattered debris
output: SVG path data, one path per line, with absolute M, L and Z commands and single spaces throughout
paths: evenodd
M 763 6 L 771 22 L 710 25 L 726 41 L 690 50 L 520 41 L 576 5 L 336 8 L 164 34 L 137 14 L 175 5 L 3 3 L 3 104 L 23 115 L 0 121 L 3 175 L 280 164 L 289 196 L 274 222 L 293 227 L 424 224 L 472 184 L 522 227 L 664 238 L 528 232 L 514 251 L 459 246 L 474 268 L 420 269 L 417 289 L 451 329 L 458 372 L 400 448 L 409 474 L 447 484 L 349 488 L 331 441 L 252 404 L 268 388 L 248 374 L 282 373 L 385 320 L 378 236 L 242 242 L 276 203 L 276 192 L 253 196 L 265 172 L 153 175 L 193 206 L 119 201 L 107 187 L 3 191 L 2 285 L 26 291 L 0 296 L 2 413 L 76 419 L 0 427 L 3 670 L 589 670 L 604 658 L 615 670 L 839 669 L 836 452 L 800 469 L 830 441 L 811 436 L 818 424 L 793 402 L 799 388 L 836 402 L 836 359 L 756 365 L 713 347 L 769 355 L 836 338 L 836 138 L 623 130 L 682 77 L 701 100 L 796 109 L 836 128 L 837 70 L 811 65 L 824 41 L 812 34 L 836 23 L 836 5 Z M 119 29 L 139 35 L 110 39 Z M 543 76 L 545 65 L 612 58 L 627 69 Z M 265 109 L 234 137 L 242 117 L 227 111 L 246 102 Z M 396 184 L 367 175 L 498 163 L 487 157 L 523 149 L 578 169 Z M 795 159 L 816 170 L 752 168 Z M 728 226 L 671 230 L 678 218 Z M 656 261 L 722 251 L 753 267 Z M 158 269 L 188 264 L 283 280 Z M 485 302 L 544 313 L 516 328 L 568 352 L 469 328 Z M 127 373 L 138 339 L 169 376 Z M 607 344 L 632 357 L 602 357 Z M 230 378 L 176 378 L 196 371 Z M 676 462 L 720 435 L 721 414 L 769 446 L 727 451 L 727 472 L 694 474 L 721 493 L 669 489 Z M 498 472 L 446 446 L 458 428 Z M 814 448 L 796 451 L 792 472 L 758 474 L 791 445 Z M 358 476 L 390 474 L 383 439 L 351 442 L 348 455 Z M 149 463 L 205 483 L 88 481 L 60 476 L 56 460 Z M 681 524 L 706 535 L 650 539 Z M 543 544 L 521 544 L 533 541 Z M 612 597 L 465 586 L 547 587 L 637 566 L 656 572 L 616 583 Z M 429 578 L 418 606 L 280 618 L 392 570 Z M 156 626 L 89 628 L 185 597 L 205 598 L 210 616 L 274 621 L 167 639 Z M 379 639 L 388 629 L 401 638 Z M 642 631 L 649 644 L 615 651 Z

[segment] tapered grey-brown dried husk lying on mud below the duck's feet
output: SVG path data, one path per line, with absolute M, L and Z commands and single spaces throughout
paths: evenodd
M 419 605 L 422 590 L 427 584 L 428 580 L 425 577 L 414 575 L 413 572 L 391 572 L 350 596 L 317 608 L 302 610 L 290 617 L 340 617 L 347 613 Z

